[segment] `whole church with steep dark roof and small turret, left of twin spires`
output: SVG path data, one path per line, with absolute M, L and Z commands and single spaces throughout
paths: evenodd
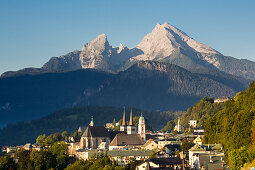
M 110 144 L 110 134 L 104 126 L 94 126 L 93 118 L 80 140 L 81 149 L 97 149 L 105 142 L 107 149 Z

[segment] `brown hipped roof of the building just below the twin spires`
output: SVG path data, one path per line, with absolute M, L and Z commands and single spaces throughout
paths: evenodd
M 144 141 L 139 134 L 119 133 L 110 143 L 110 146 L 143 145 Z

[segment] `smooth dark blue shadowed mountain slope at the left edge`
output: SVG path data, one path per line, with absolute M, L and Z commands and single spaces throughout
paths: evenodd
M 40 118 L 72 107 L 84 89 L 98 88 L 111 76 L 87 69 L 0 78 L 0 125 Z

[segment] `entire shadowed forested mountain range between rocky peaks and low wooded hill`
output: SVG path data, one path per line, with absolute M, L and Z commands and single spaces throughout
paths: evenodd
M 0 124 L 73 106 L 186 110 L 204 96 L 234 96 L 249 81 L 217 70 L 139 61 L 117 74 L 93 69 L 0 78 Z

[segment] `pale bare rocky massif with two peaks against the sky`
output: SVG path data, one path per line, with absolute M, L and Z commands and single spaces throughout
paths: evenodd
M 113 47 L 106 35 L 101 34 L 85 44 L 81 51 L 52 57 L 42 68 L 6 72 L 2 77 L 87 68 L 116 73 L 128 69 L 138 61 L 147 60 L 171 63 L 188 70 L 215 69 L 246 79 L 255 79 L 255 62 L 224 56 L 168 23 L 157 24 L 132 49 L 122 44 Z

